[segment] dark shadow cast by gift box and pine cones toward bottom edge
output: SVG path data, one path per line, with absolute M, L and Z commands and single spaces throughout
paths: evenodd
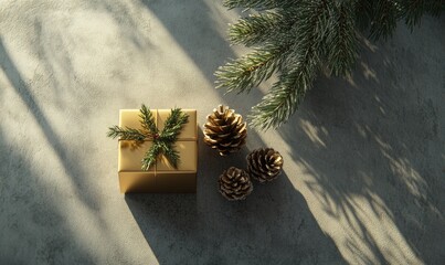
M 126 194 L 159 263 L 342 264 L 286 173 L 254 182 L 245 201 L 229 202 L 218 192 L 219 174 L 230 166 L 245 168 L 248 152 L 220 157 L 199 145 L 197 194 Z

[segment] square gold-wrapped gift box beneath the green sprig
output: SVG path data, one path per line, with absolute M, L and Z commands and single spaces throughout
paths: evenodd
M 141 169 L 141 160 L 152 141 L 136 145 L 119 140 L 118 174 L 121 193 L 128 192 L 197 192 L 198 169 L 198 124 L 195 109 L 182 109 L 189 115 L 187 123 L 174 144 L 180 162 L 174 169 L 166 157 L 160 156 L 149 170 Z M 170 109 L 151 109 L 159 131 L 170 115 Z M 120 109 L 119 126 L 140 129 L 139 109 Z

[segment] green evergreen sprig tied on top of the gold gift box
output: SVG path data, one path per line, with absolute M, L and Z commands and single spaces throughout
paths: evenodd
M 121 140 L 134 140 L 136 144 L 141 144 L 146 139 L 152 140 L 152 146 L 141 160 L 144 170 L 148 170 L 153 166 L 160 155 L 166 156 L 171 166 L 178 168 L 180 157 L 174 149 L 174 142 L 178 140 L 183 125 L 189 121 L 189 115 L 182 113 L 181 108 L 172 108 L 161 132 L 156 126 L 155 117 L 150 109 L 144 104 L 140 108 L 139 117 L 142 129 L 113 126 L 109 127 L 107 136 L 112 138 L 120 137 Z

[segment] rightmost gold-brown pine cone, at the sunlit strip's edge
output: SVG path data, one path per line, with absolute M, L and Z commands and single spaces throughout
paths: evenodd
M 247 156 L 247 172 L 259 182 L 274 180 L 282 168 L 283 157 L 273 148 L 256 149 Z

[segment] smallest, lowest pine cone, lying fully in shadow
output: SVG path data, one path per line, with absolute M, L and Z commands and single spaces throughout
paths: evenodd
M 247 172 L 231 167 L 220 176 L 220 192 L 230 201 L 244 200 L 253 190 Z

